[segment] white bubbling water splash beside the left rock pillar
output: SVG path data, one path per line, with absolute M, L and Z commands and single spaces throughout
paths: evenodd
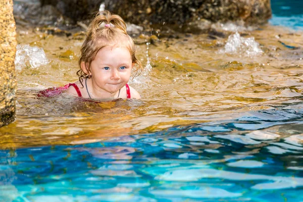
M 43 48 L 37 46 L 30 46 L 28 44 L 17 45 L 17 52 L 15 58 L 15 67 L 17 70 L 30 66 L 31 68 L 38 68 L 41 65 L 47 65 L 49 62 L 45 56 Z

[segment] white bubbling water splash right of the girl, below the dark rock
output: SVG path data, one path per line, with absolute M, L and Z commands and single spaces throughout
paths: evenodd
M 263 51 L 259 47 L 259 43 L 255 41 L 255 37 L 244 38 L 236 32 L 228 37 L 228 40 L 220 53 L 254 57 L 261 55 Z

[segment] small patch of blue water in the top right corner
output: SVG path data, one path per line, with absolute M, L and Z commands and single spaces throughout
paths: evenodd
M 303 1 L 301 0 L 272 0 L 273 17 L 269 21 L 272 25 L 303 30 Z

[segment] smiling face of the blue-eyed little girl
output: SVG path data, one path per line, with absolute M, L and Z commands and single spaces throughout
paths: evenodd
M 127 48 L 106 46 L 91 62 L 90 74 L 93 85 L 100 90 L 115 93 L 129 81 L 133 67 Z

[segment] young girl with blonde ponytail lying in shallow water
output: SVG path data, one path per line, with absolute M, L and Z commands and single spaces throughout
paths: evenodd
M 132 69 L 136 76 L 142 67 L 120 16 L 104 11 L 93 19 L 80 50 L 79 66 L 79 81 L 43 90 L 40 96 L 56 95 L 66 89 L 70 95 L 92 99 L 141 98 L 127 84 Z

